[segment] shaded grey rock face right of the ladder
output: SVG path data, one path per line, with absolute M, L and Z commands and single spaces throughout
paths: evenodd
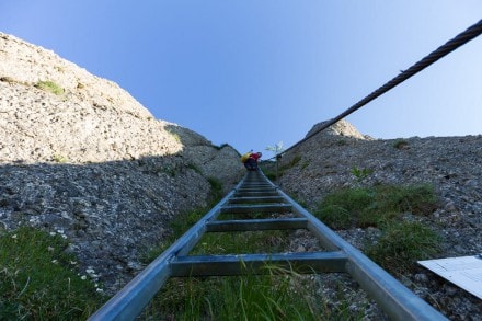
M 330 131 L 319 133 L 284 156 L 284 164 L 295 164 L 280 179 L 286 193 L 312 210 L 326 194 L 343 187 L 427 183 L 435 187 L 439 207 L 427 217 L 406 213 L 405 218 L 422 220 L 443 237 L 439 257 L 482 253 L 481 135 L 372 140 L 356 133 Z M 369 171 L 359 177 L 354 168 Z M 372 227 L 337 232 L 362 251 L 380 234 Z M 397 277 L 450 319 L 481 320 L 480 299 L 427 270 Z

